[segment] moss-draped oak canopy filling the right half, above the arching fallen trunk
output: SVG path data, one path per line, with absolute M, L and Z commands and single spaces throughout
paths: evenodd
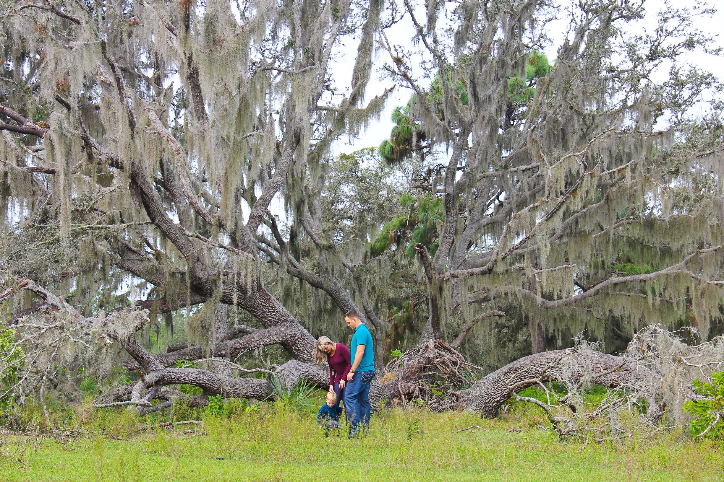
M 722 138 L 718 105 L 703 122 L 689 112 L 721 85 L 679 60 L 712 51 L 694 28 L 706 12 L 668 8 L 651 33 L 626 35 L 643 2 L 584 2 L 550 66 L 538 49 L 553 13 L 511 5 L 463 2 L 443 27 L 442 4 L 422 17 L 405 1 L 418 48 L 383 37 L 384 70 L 413 96 L 380 153 L 434 156 L 439 172 L 417 200 L 400 199 L 412 216 L 387 224 L 371 253 L 393 239 L 417 251 L 426 337 L 452 338 L 456 310 L 469 330 L 514 305 L 533 352 L 546 336 L 603 339 L 611 318 L 631 337 L 686 313 L 706 338 L 721 315 Z M 707 132 L 701 144 L 691 130 Z

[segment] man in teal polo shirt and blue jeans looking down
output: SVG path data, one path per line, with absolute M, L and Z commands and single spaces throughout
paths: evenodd
M 372 335 L 367 326 L 362 323 L 357 310 L 345 313 L 347 326 L 355 331 L 352 336 L 350 358 L 352 368 L 347 375 L 347 388 L 345 389 L 345 410 L 350 420 L 350 435 L 357 436 L 359 431 L 369 427 L 369 385 L 374 379 L 374 350 L 372 349 Z

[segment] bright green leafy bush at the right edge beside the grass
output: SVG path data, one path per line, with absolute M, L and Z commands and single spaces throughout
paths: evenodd
M 694 393 L 702 398 L 687 400 L 683 404 L 686 413 L 694 415 L 691 434 L 697 437 L 722 439 L 724 437 L 724 371 L 712 373 L 712 381 L 699 379 L 691 383 Z

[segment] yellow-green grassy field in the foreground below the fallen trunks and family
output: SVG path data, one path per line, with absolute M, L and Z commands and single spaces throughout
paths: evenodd
M 360 440 L 325 438 L 312 414 L 271 406 L 203 422 L 144 433 L 119 410 L 75 420 L 93 430 L 82 437 L 6 433 L 0 481 L 724 481 L 721 442 L 557 441 L 526 407 L 494 420 L 397 409 Z M 473 424 L 490 432 L 450 433 Z

